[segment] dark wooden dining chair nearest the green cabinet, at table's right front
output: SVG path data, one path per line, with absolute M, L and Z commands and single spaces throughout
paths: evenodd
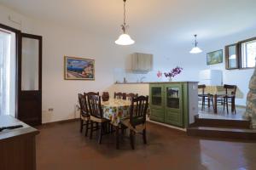
M 130 129 L 130 143 L 134 150 L 134 135 L 143 134 L 143 142 L 147 144 L 146 138 L 146 114 L 148 111 L 148 96 L 138 96 L 131 99 L 130 118 L 122 121 L 125 127 Z

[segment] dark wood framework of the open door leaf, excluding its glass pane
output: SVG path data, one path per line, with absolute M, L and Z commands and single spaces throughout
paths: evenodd
M 30 90 L 30 91 L 22 91 L 21 90 L 21 74 L 22 74 L 22 37 L 32 38 L 38 40 L 38 90 Z M 43 37 L 38 35 L 20 33 L 20 55 L 19 55 L 19 63 L 18 63 L 18 119 L 31 126 L 36 126 L 42 124 L 42 44 Z M 30 99 L 30 100 L 38 100 L 38 119 L 31 119 L 31 117 L 26 116 L 24 108 L 26 110 L 26 104 L 22 103 L 22 101 Z M 26 105 L 26 106 L 25 106 Z M 29 108 L 29 106 L 28 106 Z M 29 112 L 29 111 L 27 111 Z

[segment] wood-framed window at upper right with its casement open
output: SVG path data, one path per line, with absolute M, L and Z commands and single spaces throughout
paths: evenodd
M 256 37 L 225 47 L 226 69 L 246 69 L 255 67 Z

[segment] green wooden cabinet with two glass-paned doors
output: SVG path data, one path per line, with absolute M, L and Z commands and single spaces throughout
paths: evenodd
M 189 105 L 189 99 L 197 101 L 197 82 L 192 85 L 189 86 L 189 82 L 149 83 L 150 120 L 187 127 L 191 106 L 194 106 L 194 114 L 198 110 L 197 102 Z M 193 88 L 195 92 L 189 93 Z

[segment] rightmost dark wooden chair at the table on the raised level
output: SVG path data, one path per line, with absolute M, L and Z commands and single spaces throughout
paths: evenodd
M 227 108 L 227 113 L 229 113 L 229 104 L 231 105 L 231 111 L 236 113 L 236 85 L 224 84 L 225 95 L 224 98 L 224 109 Z

